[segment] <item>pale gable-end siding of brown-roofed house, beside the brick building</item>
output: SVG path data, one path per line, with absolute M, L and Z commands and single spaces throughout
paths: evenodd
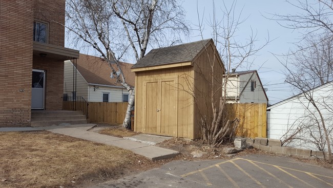
M 64 66 L 64 93 L 72 96 L 73 64 L 71 61 L 65 61 Z M 78 70 L 76 70 L 76 97 L 83 97 L 85 100 L 88 99 L 88 83 Z

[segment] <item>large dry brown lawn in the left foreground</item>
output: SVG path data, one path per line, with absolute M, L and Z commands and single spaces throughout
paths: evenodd
M 47 131 L 0 132 L 0 154 L 0 187 L 72 187 L 159 165 L 124 149 Z

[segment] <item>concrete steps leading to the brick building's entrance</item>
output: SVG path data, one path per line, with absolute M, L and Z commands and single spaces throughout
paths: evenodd
M 86 116 L 81 111 L 69 110 L 32 110 L 31 126 L 51 126 L 65 124 L 85 124 Z

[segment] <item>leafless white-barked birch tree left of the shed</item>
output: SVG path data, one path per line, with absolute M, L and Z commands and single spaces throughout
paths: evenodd
M 67 0 L 66 27 L 106 60 L 112 77 L 130 93 L 123 127 L 130 124 L 134 88 L 126 82 L 119 60 L 134 54 L 138 61 L 149 45 L 179 42 L 189 32 L 184 17 L 176 0 Z

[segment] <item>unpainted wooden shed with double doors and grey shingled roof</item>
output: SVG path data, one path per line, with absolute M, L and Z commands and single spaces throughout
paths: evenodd
M 135 131 L 200 137 L 201 117 L 212 117 L 212 91 L 219 99 L 225 71 L 212 39 L 153 49 L 132 71 Z

